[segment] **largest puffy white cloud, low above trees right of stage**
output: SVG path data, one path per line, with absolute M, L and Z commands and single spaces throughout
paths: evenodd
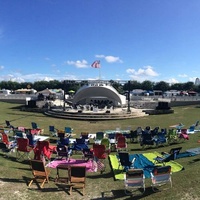
M 129 74 L 130 78 L 137 81 L 149 80 L 151 77 L 156 77 L 159 75 L 151 66 L 144 66 L 137 71 L 133 68 L 129 68 L 126 70 L 126 72 Z

